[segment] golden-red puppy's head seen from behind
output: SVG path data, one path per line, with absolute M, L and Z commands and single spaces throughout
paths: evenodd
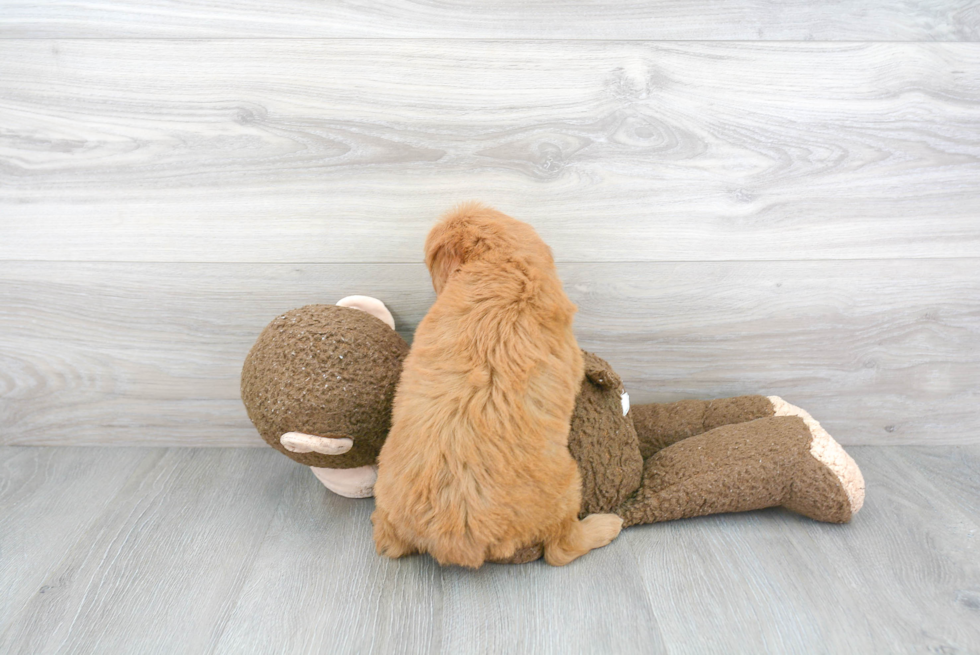
M 438 294 L 467 262 L 519 252 L 533 253 L 539 263 L 554 265 L 551 249 L 530 225 L 479 202 L 468 202 L 444 215 L 429 232 L 425 265 Z

